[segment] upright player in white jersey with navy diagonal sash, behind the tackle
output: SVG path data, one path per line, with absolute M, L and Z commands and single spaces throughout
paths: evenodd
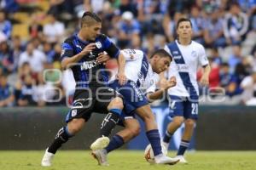
M 179 158 L 179 162 L 186 163 L 187 161 L 183 155 L 189 147 L 189 141 L 198 118 L 199 89 L 196 81 L 196 71 L 199 65 L 203 67 L 204 73 L 201 77 L 201 85 L 207 86 L 211 68 L 205 48 L 191 39 L 193 32 L 191 21 L 185 18 L 178 20 L 176 31 L 177 40 L 166 44 L 165 47 L 166 52 L 171 54 L 173 59 L 169 67 L 168 77 L 176 77 L 177 85 L 168 90 L 172 122 L 167 126 L 163 141 L 168 147 L 173 133 L 184 122 L 185 129 L 177 150 L 177 158 Z

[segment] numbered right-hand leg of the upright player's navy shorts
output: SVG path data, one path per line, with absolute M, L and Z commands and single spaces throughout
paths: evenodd
M 198 101 L 188 99 L 184 104 L 185 119 L 198 119 Z

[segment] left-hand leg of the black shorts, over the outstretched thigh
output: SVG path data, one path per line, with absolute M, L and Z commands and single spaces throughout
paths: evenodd
M 90 119 L 95 102 L 96 99 L 90 90 L 76 90 L 73 96 L 73 105 L 66 116 L 66 122 L 71 122 L 74 118 L 83 118 L 84 122 L 87 122 Z

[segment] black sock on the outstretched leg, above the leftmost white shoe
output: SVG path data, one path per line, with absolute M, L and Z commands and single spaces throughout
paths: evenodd
M 68 133 L 67 126 L 66 127 L 61 127 L 59 132 L 55 136 L 55 140 L 53 141 L 52 144 L 50 144 L 48 148 L 49 153 L 55 154 L 56 151 L 61 148 L 61 144 L 64 144 L 67 142 L 69 138 L 73 137 L 72 134 Z

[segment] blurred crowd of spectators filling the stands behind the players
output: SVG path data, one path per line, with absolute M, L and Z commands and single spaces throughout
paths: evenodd
M 218 105 L 256 105 L 256 0 L 2 0 L 0 8 L 0 107 L 70 104 L 75 85 L 61 71 L 61 42 L 87 10 L 119 48 L 148 56 L 189 17 L 212 66 L 206 95 L 218 99 L 221 88 Z

